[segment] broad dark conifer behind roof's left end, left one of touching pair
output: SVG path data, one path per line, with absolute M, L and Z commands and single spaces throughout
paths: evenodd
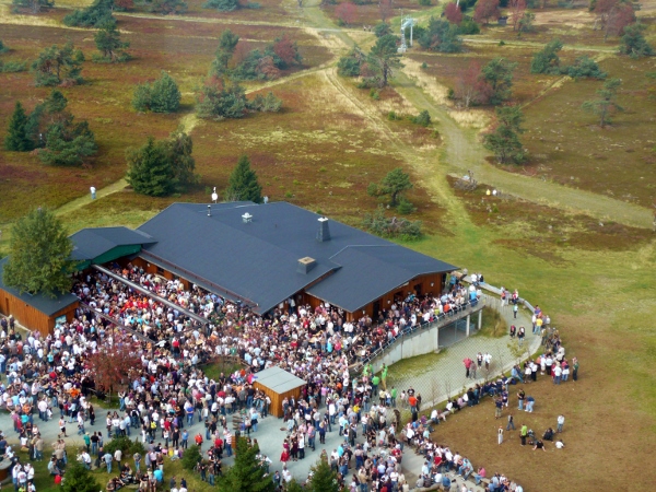
M 127 161 L 127 180 L 138 194 L 164 197 L 175 189 L 175 175 L 166 148 L 152 137 L 148 138 L 145 145 L 128 149 Z

